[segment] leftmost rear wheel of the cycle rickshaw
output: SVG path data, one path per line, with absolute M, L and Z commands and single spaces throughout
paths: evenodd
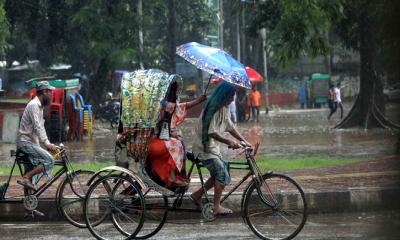
M 125 194 L 126 188 L 136 191 L 135 196 Z M 135 237 L 143 226 L 144 212 L 142 192 L 129 176 L 121 174 L 104 176 L 94 182 L 84 203 L 87 227 L 101 240 Z

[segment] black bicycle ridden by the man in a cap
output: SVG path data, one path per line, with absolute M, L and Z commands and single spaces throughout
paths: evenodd
M 11 150 L 11 157 L 15 157 L 14 163 L 11 167 L 10 175 L 6 183 L 2 185 L 3 191 L 0 193 L 0 204 L 2 203 L 19 203 L 23 204 L 24 208 L 28 211 L 28 215 L 34 218 L 36 215 L 45 216 L 44 213 L 37 210 L 40 196 L 53 185 L 61 176 L 65 176 L 64 180 L 60 182 L 56 192 L 56 205 L 59 212 L 64 218 L 72 225 L 85 228 L 86 224 L 83 219 L 82 203 L 85 197 L 87 181 L 94 174 L 93 171 L 77 170 L 75 171 L 66 154 L 66 149 L 63 144 L 60 144 L 58 151 L 53 154 L 55 166 L 60 166 L 60 169 L 54 174 L 54 177 L 48 181 L 40 184 L 36 190 L 24 188 L 24 194 L 18 196 L 7 196 L 7 190 L 10 186 L 10 181 L 13 176 L 16 166 L 18 166 L 21 176 L 24 173 L 33 169 L 29 157 L 26 153 L 20 150 Z M 35 184 L 39 184 L 40 178 L 36 180 Z

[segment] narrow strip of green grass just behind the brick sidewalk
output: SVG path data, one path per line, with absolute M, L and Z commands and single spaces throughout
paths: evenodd
M 237 159 L 234 161 L 243 161 L 243 159 Z M 345 165 L 349 163 L 362 161 L 361 158 L 352 157 L 326 157 L 326 156 L 315 156 L 315 157 L 257 157 L 258 166 L 263 172 L 274 170 L 274 171 L 290 171 L 290 170 L 302 170 L 312 168 L 323 168 L 330 166 Z M 186 162 L 186 170 L 190 168 L 190 161 Z M 114 162 L 104 163 L 73 163 L 73 168 L 85 169 L 97 171 L 101 168 L 115 165 Z M 55 170 L 59 167 L 56 166 Z M 0 176 L 7 176 L 10 173 L 10 167 L 0 167 Z M 202 170 L 203 171 L 203 170 Z M 204 169 L 207 172 L 206 169 Z M 238 170 L 239 171 L 239 170 Z M 243 171 L 243 170 L 241 170 Z M 194 172 L 197 172 L 196 169 Z M 14 175 L 18 175 L 18 169 L 14 170 Z

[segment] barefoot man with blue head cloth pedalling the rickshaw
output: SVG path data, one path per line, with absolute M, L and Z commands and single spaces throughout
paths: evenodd
M 223 82 L 214 91 L 200 115 L 192 148 L 194 156 L 210 171 L 211 177 L 206 181 L 205 188 L 207 191 L 214 187 L 214 215 L 232 213 L 231 209 L 220 204 L 222 191 L 231 181 L 227 162 L 221 156 L 220 143 L 232 149 L 239 148 L 240 142 L 251 146 L 230 120 L 229 104 L 233 101 L 234 95 L 235 87 L 227 82 Z M 233 138 L 224 137 L 222 135 L 224 132 L 229 132 Z M 190 198 L 200 205 L 203 194 L 203 188 L 199 188 Z

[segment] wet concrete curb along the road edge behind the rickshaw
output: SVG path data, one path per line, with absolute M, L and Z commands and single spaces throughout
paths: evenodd
M 326 190 L 305 190 L 309 208 L 309 214 L 317 213 L 342 213 L 342 212 L 363 212 L 378 210 L 397 210 L 400 209 L 400 187 L 386 188 L 347 188 L 347 189 L 326 189 Z M 211 195 L 212 197 L 212 195 Z M 172 199 L 169 200 L 170 202 Z M 225 202 L 227 206 L 234 210 L 232 217 L 239 217 L 241 209 L 242 193 L 231 195 Z M 185 197 L 184 206 L 193 207 L 193 203 Z M 35 217 L 36 221 L 65 221 L 57 211 L 55 199 L 40 199 L 37 208 L 45 216 Z M 22 203 L 0 203 L 0 221 L 32 221 L 32 218 L 25 218 L 25 209 Z M 199 218 L 199 214 L 169 214 L 168 219 Z

